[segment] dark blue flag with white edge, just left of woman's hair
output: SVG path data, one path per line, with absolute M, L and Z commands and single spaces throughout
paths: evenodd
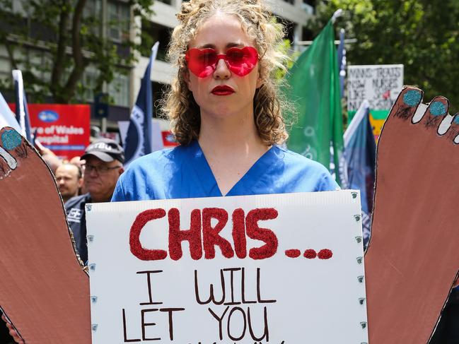
M 158 53 L 159 42 L 151 48 L 151 56 L 142 78 L 136 104 L 132 108 L 126 141 L 124 142 L 124 156 L 127 167 L 134 159 L 151 153 L 151 117 L 153 117 L 153 97 L 151 95 L 151 66 Z

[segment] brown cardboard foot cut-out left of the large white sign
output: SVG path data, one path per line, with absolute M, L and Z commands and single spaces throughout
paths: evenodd
M 54 177 L 11 128 L 0 130 L 0 227 L 0 306 L 11 331 L 25 343 L 91 343 L 89 278 Z

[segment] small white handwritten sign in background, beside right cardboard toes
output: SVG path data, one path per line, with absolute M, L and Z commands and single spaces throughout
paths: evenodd
M 389 110 L 402 87 L 402 64 L 348 66 L 347 111 L 356 111 L 364 100 L 372 110 Z

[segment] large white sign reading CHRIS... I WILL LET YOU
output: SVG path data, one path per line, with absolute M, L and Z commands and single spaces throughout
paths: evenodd
M 366 343 L 357 191 L 86 206 L 93 344 Z

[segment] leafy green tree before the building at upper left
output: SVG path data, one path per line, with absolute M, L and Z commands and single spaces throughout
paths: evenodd
M 115 73 L 129 72 L 140 33 L 134 30 L 132 37 L 129 12 L 146 18 L 153 0 L 110 2 L 115 6 L 103 18 L 103 1 L 0 0 L 0 45 L 11 67 L 23 71 L 25 88 L 35 101 L 49 96 L 58 103 L 83 100 L 88 66 L 96 71 L 93 93 Z

